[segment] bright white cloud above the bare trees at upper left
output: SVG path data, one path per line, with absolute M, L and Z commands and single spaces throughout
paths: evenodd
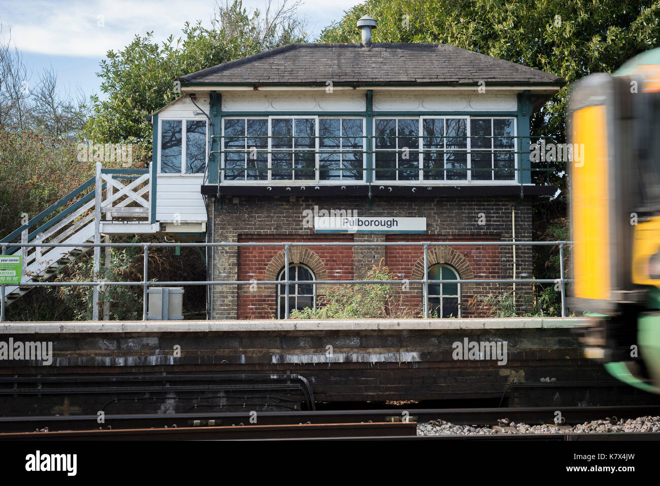
M 358 0 L 306 0 L 299 13 L 308 18 L 312 35 Z M 24 52 L 79 57 L 104 57 L 108 50 L 119 50 L 129 44 L 135 34 L 154 31 L 154 39 L 162 41 L 170 34 L 181 34 L 183 23 L 202 20 L 208 24 L 213 13 L 213 0 L 22 0 L 0 6 L 3 33 L 11 27 L 11 36 Z M 263 0 L 244 1 L 244 7 L 263 9 Z M 102 15 L 104 26 L 98 26 Z

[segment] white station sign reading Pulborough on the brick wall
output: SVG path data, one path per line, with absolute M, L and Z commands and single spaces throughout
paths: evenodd
M 317 233 L 426 233 L 426 218 L 315 217 Z

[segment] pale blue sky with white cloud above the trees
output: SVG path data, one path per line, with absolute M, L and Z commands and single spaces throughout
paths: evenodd
M 278 0 L 273 0 L 277 4 Z M 292 0 L 289 0 L 290 2 Z M 310 39 L 339 20 L 360 0 L 302 0 L 298 13 L 308 22 Z M 36 83 L 53 68 L 62 92 L 77 87 L 88 96 L 100 93 L 98 65 L 108 50 L 121 50 L 136 34 L 154 32 L 154 40 L 181 34 L 184 22 L 209 25 L 215 0 L 19 0 L 0 2 L 1 35 L 22 52 Z M 263 10 L 265 0 L 244 0 L 248 11 Z

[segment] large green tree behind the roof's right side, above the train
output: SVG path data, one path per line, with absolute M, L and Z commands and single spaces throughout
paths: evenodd
M 358 42 L 356 21 L 366 14 L 378 20 L 374 42 L 442 42 L 569 82 L 612 72 L 660 46 L 657 0 L 367 0 L 325 28 L 319 40 Z M 568 87 L 562 88 L 535 114 L 532 135 L 564 141 L 567 96 Z M 550 162 L 551 184 L 565 187 L 563 165 Z

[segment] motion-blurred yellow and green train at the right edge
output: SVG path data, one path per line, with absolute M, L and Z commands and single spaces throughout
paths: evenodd
M 569 305 L 585 356 L 660 394 L 660 48 L 572 89 Z M 577 144 L 577 145 L 576 145 Z

